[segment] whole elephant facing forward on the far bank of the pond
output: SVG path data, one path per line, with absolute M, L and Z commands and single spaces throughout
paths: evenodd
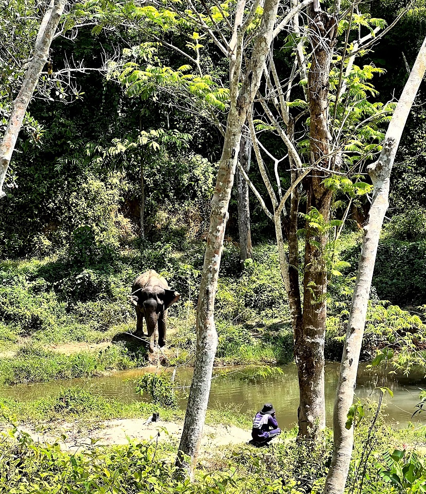
M 162 348 L 166 344 L 167 333 L 167 309 L 171 304 L 179 300 L 180 293 L 169 289 L 169 285 L 163 276 L 150 269 L 144 272 L 132 285 L 132 293 L 129 299 L 136 309 L 135 335 L 143 337 L 143 321 L 145 318 L 149 351 L 154 351 L 154 338 L 158 327 L 158 346 Z

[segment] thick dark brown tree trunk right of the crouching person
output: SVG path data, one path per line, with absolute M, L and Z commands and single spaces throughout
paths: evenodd
M 330 219 L 332 193 L 322 181 L 330 169 L 331 135 L 328 129 L 328 77 L 337 38 L 334 16 L 320 10 L 319 3 L 309 7 L 309 25 L 313 45 L 312 62 L 308 71 L 308 105 L 312 176 L 306 180 L 306 212 L 318 209 L 325 221 Z M 305 260 L 303 278 L 303 318 L 295 331 L 295 360 L 298 367 L 300 404 L 298 409 L 299 436 L 314 438 L 325 427 L 324 340 L 326 320 L 327 270 L 324 248 L 327 237 L 312 231 L 306 222 Z

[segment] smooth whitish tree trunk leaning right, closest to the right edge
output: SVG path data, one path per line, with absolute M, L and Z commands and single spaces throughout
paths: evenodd
M 380 230 L 385 212 L 388 209 L 391 171 L 406 120 L 413 106 L 414 98 L 417 95 L 425 71 L 426 38 L 417 55 L 417 60 L 410 73 L 410 77 L 405 84 L 388 132 L 386 132 L 380 157 L 376 163 L 368 167 L 374 185 L 373 201 L 367 222 L 364 226 L 361 258 L 358 265 L 358 275 L 352 297 L 340 366 L 339 382 L 334 404 L 334 450 L 332 464 L 328 471 L 324 488 L 326 494 L 343 494 L 347 480 L 354 442 L 354 430 L 353 427 L 346 429 L 345 424 L 347 413 L 354 400 L 359 354 L 364 334 Z

